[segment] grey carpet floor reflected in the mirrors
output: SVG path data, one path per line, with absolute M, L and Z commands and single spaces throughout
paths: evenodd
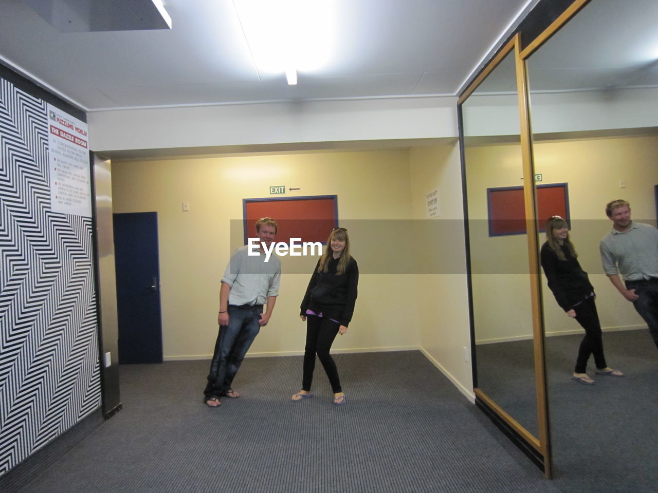
M 570 379 L 580 340 L 545 339 L 553 484 L 564 493 L 658 491 L 655 344 L 647 329 L 604 333 L 607 363 L 625 376 L 595 375 L 590 358 L 595 385 L 586 386 Z M 483 344 L 477 354 L 482 389 L 535 430 L 532 340 Z

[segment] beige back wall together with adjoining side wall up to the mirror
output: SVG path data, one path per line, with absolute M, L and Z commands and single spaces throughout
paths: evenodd
M 421 348 L 472 399 L 470 356 L 463 349 L 470 355 L 456 142 L 394 151 L 115 160 L 114 212 L 158 212 L 165 358 L 210 358 L 219 279 L 242 243 L 242 199 L 268 197 L 274 184 L 301 188 L 288 197 L 338 195 L 340 223 L 349 229 L 361 277 L 355 316 L 334 350 Z M 424 194 L 434 187 L 441 216 L 425 220 Z M 182 202 L 190 203 L 189 212 Z M 281 260 L 274 316 L 249 356 L 303 352 L 299 302 L 316 260 Z

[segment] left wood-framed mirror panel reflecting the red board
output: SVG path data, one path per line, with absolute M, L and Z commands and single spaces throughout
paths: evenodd
M 474 342 L 476 403 L 513 430 L 549 475 L 545 389 L 531 289 L 536 276 L 526 217 L 534 217 L 522 151 L 523 79 L 518 38 L 493 58 L 460 98 L 463 176 Z M 522 74 L 521 74 L 522 75 Z M 527 131 L 526 131 L 527 134 Z M 525 189 L 524 189 L 525 188 Z M 529 237 L 530 236 L 530 237 Z M 532 241 L 530 241 L 532 239 Z

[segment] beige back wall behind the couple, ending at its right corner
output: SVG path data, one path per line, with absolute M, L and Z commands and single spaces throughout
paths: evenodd
M 357 228 L 349 231 L 359 264 L 391 262 L 370 247 L 399 238 L 367 238 L 359 226 L 373 219 L 410 218 L 406 149 L 113 162 L 114 212 L 158 213 L 165 358 L 211 356 L 219 280 L 233 248 L 241 244 L 241 235 L 236 239 L 228 233 L 230 224 L 241 220 L 243 198 L 268 197 L 269 185 L 281 184 L 300 188 L 288 197 L 338 195 L 341 223 Z M 182 211 L 182 202 L 190 203 L 189 212 Z M 252 356 L 301 354 L 305 326 L 299 303 L 315 262 L 282 258 L 274 316 L 251 346 Z M 402 308 L 416 306 L 414 276 L 377 272 L 362 273 L 355 316 L 347 335 L 336 340 L 337 351 L 418 348 L 417 310 Z

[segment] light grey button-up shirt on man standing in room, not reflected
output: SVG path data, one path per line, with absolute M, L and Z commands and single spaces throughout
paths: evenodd
M 281 260 L 276 255 L 265 262 L 265 254 L 249 255 L 248 246 L 240 247 L 231 257 L 222 283 L 231 287 L 228 304 L 262 305 L 268 296 L 278 296 Z

